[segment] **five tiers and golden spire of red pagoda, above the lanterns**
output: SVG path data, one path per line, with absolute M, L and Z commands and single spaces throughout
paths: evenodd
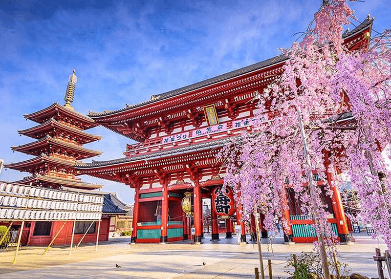
M 78 160 L 101 154 L 100 151 L 86 149 L 83 145 L 99 140 L 101 136 L 86 133 L 84 130 L 96 127 L 97 124 L 91 118 L 76 112 L 70 105 L 77 82 L 75 71 L 74 69 L 69 77 L 65 106 L 54 103 L 50 107 L 24 115 L 38 125 L 18 132 L 37 140 L 12 147 L 12 150 L 35 156 L 26 161 L 4 165 L 5 168 L 32 174 L 16 181 L 17 183 L 89 190 L 102 187 L 76 178 L 74 166 Z

